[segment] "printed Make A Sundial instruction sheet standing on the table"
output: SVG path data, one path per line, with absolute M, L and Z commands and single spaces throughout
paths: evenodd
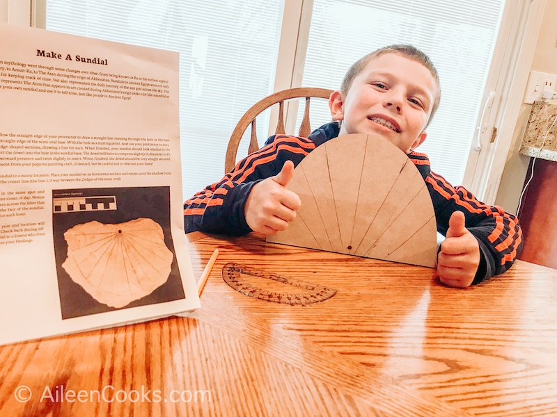
M 197 308 L 178 53 L 8 24 L 0 43 L 0 344 Z

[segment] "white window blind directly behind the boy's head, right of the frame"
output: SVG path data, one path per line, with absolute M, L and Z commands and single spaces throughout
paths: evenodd
M 432 59 L 441 104 L 418 152 L 450 183 L 462 183 L 499 31 L 503 0 L 313 0 L 302 85 L 337 90 L 350 65 L 389 44 L 414 44 Z M 314 106 L 311 121 L 327 122 Z M 301 122 L 301 110 L 297 117 Z

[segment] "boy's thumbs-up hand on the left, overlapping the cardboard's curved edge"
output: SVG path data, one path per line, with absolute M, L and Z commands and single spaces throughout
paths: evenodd
M 266 235 L 288 227 L 301 206 L 300 197 L 285 187 L 294 174 L 294 163 L 286 161 L 281 172 L 257 183 L 249 193 L 244 208 L 246 222 L 253 231 Z

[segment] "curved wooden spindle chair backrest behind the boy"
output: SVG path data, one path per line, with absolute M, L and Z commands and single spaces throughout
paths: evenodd
M 230 140 L 228 141 L 228 148 L 226 149 L 226 161 L 224 164 L 224 172 L 230 172 L 236 165 L 236 155 L 240 140 L 244 136 L 244 132 L 251 124 L 251 137 L 249 140 L 248 154 L 256 152 L 259 149 L 256 133 L 256 117 L 266 108 L 278 103 L 278 123 L 276 124 L 275 134 L 285 133 L 284 131 L 284 101 L 288 99 L 306 98 L 306 108 L 304 110 L 304 117 L 301 121 L 300 129 L 297 136 L 307 138 L 311 133 L 311 126 L 309 122 L 309 102 L 312 97 L 319 97 L 322 99 L 329 99 L 333 90 L 327 88 L 290 88 L 275 92 L 272 95 L 253 104 L 251 108 L 242 116 L 240 122 L 236 125 Z

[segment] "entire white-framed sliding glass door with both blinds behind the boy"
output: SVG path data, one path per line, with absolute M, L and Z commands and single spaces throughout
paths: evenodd
M 494 126 L 500 136 L 508 131 L 509 122 L 503 122 L 514 110 L 501 103 L 510 92 L 516 95 L 509 89 L 526 48 L 522 37 L 529 30 L 528 10 L 535 8 L 531 2 L 42 1 L 47 3 L 46 27 L 51 30 L 180 51 L 185 197 L 221 177 L 228 137 L 256 101 L 272 90 L 300 85 L 338 88 L 354 60 L 376 47 L 407 42 L 431 56 L 441 79 L 441 106 L 418 150 L 426 152 L 434 170 L 451 183 L 463 183 L 478 197 L 487 193 L 494 199 L 493 187 L 486 191 L 485 183 L 501 176 L 500 160 L 508 152 L 512 132 L 506 133 L 502 147 L 498 139 L 481 152 L 475 152 L 473 140 L 494 85 L 497 92 L 486 106 L 484 142 L 489 142 Z M 284 19 L 283 8 L 289 10 Z M 292 10 L 301 11 L 292 16 Z M 297 33 L 295 42 L 285 42 L 285 33 Z M 279 46 L 297 49 L 297 54 L 285 54 L 288 59 L 277 63 Z M 290 55 L 295 56 L 291 61 Z M 317 102 L 312 102 L 313 126 L 330 120 L 327 105 Z M 296 117 L 291 118 L 294 123 Z M 261 142 L 268 125 L 258 123 Z M 246 141 L 240 146 L 238 155 L 246 154 Z M 490 171 L 494 158 L 501 165 L 496 168 L 499 174 Z

